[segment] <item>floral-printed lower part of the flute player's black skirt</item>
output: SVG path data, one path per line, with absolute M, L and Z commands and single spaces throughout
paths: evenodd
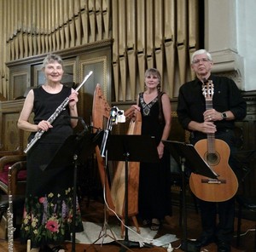
M 83 231 L 79 203 L 76 202 L 75 232 Z M 20 240 L 31 240 L 32 248 L 60 244 L 71 239 L 73 232 L 73 189 L 44 197 L 26 196 Z

